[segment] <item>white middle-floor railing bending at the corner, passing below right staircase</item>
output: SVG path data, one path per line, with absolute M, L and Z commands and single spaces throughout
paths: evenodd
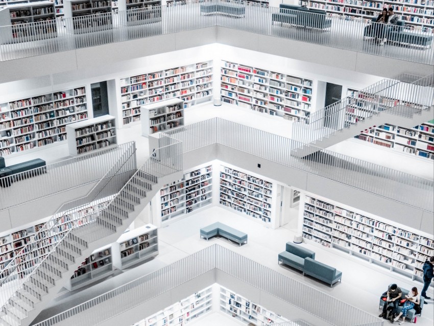
M 434 181 L 317 148 L 308 159 L 292 155 L 303 143 L 221 118 L 168 130 L 179 139 L 184 153 L 213 144 L 318 175 L 350 187 L 433 212 Z M 399 190 L 399 191 L 398 191 Z

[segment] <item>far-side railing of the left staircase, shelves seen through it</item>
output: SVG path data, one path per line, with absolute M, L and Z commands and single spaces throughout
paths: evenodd
M 116 194 L 136 171 L 135 143 L 119 157 L 112 167 L 102 176 L 86 196 L 66 202 L 58 208 L 51 219 L 40 225 L 36 234 L 28 237 L 28 242 L 14 253 L 13 259 L 0 272 L 0 303 L 3 306 L 16 291 L 33 276 L 34 280 L 44 283 L 46 274 L 37 274 L 36 270 L 62 241 L 70 235 L 71 230 L 86 226 L 95 221 L 104 201 Z M 92 205 L 92 206 L 91 206 Z M 85 212 L 85 214 L 80 214 Z M 66 224 L 66 222 L 68 222 Z M 80 239 L 73 238 L 80 245 L 87 247 Z M 70 246 L 70 244 L 69 244 Z M 55 269 L 52 270 L 55 272 Z M 60 275 L 58 275 L 60 276 Z M 45 280 L 46 281 L 46 280 Z

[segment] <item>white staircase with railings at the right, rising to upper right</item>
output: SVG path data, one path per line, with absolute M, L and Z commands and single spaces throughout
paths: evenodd
M 306 157 L 385 123 L 413 128 L 432 120 L 433 76 L 385 79 L 312 113 L 293 125 L 291 155 Z

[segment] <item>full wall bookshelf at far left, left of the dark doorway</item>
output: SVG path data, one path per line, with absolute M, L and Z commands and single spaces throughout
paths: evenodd
M 87 119 L 85 87 L 0 103 L 0 155 L 65 141 L 66 125 Z

